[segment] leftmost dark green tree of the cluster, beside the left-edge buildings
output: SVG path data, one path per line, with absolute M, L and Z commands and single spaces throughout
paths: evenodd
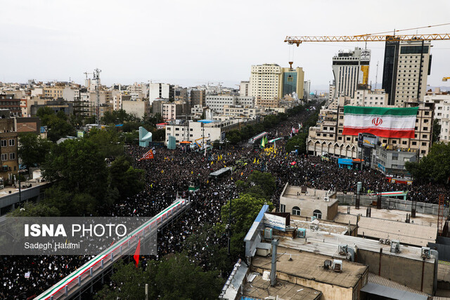
M 49 152 L 52 145 L 50 141 L 31 132 L 19 133 L 19 143 L 18 156 L 27 167 L 43 163 L 45 155 Z

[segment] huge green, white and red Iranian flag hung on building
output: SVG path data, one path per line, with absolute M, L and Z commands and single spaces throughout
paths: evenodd
M 414 138 L 418 107 L 344 107 L 342 135 L 372 133 L 382 138 Z

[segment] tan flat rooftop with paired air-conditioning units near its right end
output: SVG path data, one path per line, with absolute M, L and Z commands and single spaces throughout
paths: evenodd
M 300 253 L 298 250 L 281 245 L 281 243 L 277 252 L 277 272 L 292 275 L 296 278 L 324 282 L 328 285 L 352 288 L 368 269 L 368 266 L 364 266 L 361 263 L 342 261 L 342 272 L 335 272 L 334 270 L 323 268 L 323 262 L 330 259 L 329 256 L 311 252 Z M 289 261 L 290 257 L 292 257 L 292 261 Z M 270 270 L 271 257 L 254 256 L 251 268 L 252 270 L 253 268 Z

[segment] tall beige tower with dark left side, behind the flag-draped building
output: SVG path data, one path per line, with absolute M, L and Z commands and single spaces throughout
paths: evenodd
M 423 100 L 431 72 L 430 48 L 430 41 L 386 41 L 382 87 L 390 105 Z

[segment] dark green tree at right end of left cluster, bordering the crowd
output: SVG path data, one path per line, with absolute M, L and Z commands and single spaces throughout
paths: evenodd
M 109 168 L 110 188 L 117 188 L 120 197 L 131 197 L 143 190 L 144 171 L 134 169 L 124 156 L 118 157 Z

